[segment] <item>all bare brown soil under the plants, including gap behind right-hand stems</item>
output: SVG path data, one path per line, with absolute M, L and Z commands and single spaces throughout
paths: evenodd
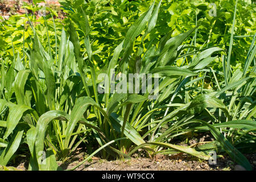
M 211 134 L 192 134 L 187 136 L 187 142 L 174 141 L 175 144 L 182 146 L 195 146 L 206 142 L 211 142 Z M 75 154 L 66 162 L 59 162 L 59 166 L 65 169 L 72 169 L 80 164 L 88 155 L 84 148 L 77 148 Z M 100 154 L 98 154 L 100 155 Z M 217 158 L 216 165 L 210 165 L 208 161 L 196 158 L 187 154 L 177 155 L 155 155 L 154 158 L 148 158 L 144 150 L 138 150 L 131 159 L 105 160 L 93 156 L 92 159 L 76 168 L 76 171 L 230 171 L 241 170 L 241 166 L 236 165 L 228 155 Z M 248 154 L 245 157 L 249 160 L 253 170 L 256 170 L 256 154 Z M 28 168 L 26 158 L 19 160 L 18 166 L 21 170 Z M 243 169 L 243 168 L 242 168 Z

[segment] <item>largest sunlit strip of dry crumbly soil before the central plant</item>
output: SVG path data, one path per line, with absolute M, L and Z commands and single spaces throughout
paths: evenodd
M 71 169 L 77 163 L 61 165 L 63 168 Z M 195 171 L 195 170 L 223 170 L 225 166 L 209 166 L 207 163 L 196 160 L 152 160 L 148 158 L 132 158 L 107 161 L 102 159 L 86 162 L 77 171 Z M 229 169 L 229 168 L 226 168 Z

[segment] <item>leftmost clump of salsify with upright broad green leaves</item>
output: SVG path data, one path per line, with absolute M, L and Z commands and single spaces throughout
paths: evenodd
M 35 143 L 35 138 L 33 137 L 36 137 L 34 135 L 36 134 L 35 126 L 42 123 L 40 121 L 46 116 L 44 114 L 51 110 L 59 110 L 61 113 L 71 114 L 74 111 L 73 106 L 76 97 L 82 94 L 83 91 L 80 85 L 80 78 L 77 75 L 73 45 L 67 39 L 64 30 L 61 35 L 58 57 L 56 59 L 53 59 L 49 56 L 48 52 L 44 51 L 36 34 L 34 35 L 33 48 L 26 52 L 26 54 L 29 61 L 28 67 L 23 65 L 26 61 L 22 63 L 18 56 L 9 69 L 5 69 L 5 63 L 2 59 L 1 111 L 5 112 L 1 115 L 1 119 L 3 119 L 1 124 L 6 129 L 1 133 L 1 137 L 3 143 L 5 143 L 14 129 L 19 127 L 19 125 L 22 128 L 27 123 L 27 126 L 24 127 L 27 138 L 23 143 L 28 144 L 31 155 L 33 155 Z M 13 98 L 14 94 L 15 98 Z M 50 118 L 52 115 L 56 115 L 56 113 L 47 114 Z M 39 118 L 39 116 L 41 117 Z M 42 124 L 45 125 L 45 120 L 43 122 Z M 67 121 L 56 120 L 52 122 L 48 130 L 47 125 L 44 129 L 38 127 L 48 131 L 46 144 L 48 147 L 52 147 L 54 153 L 60 159 L 67 158 L 68 151 L 74 151 L 84 139 L 81 138 L 80 142 L 75 143 L 77 134 L 86 133 L 87 131 L 82 126 L 76 126 L 76 129 L 70 131 L 70 126 L 68 125 Z M 15 139 L 15 135 L 13 135 L 15 145 L 19 144 L 19 140 L 22 139 L 22 134 L 19 136 L 21 137 L 20 139 Z M 6 151 L 2 153 L 3 160 L 1 163 L 3 165 L 6 165 L 10 160 L 11 155 L 7 155 L 8 152 L 14 152 L 7 150 L 12 144 L 10 142 Z

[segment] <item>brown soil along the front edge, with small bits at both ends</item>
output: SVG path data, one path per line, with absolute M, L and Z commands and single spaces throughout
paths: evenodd
M 245 155 L 249 159 L 253 170 L 256 169 L 256 154 Z M 77 152 L 65 163 L 59 162 L 59 166 L 72 169 L 86 158 L 85 152 Z M 17 166 L 20 170 L 26 170 L 28 163 L 23 161 Z M 217 159 L 216 165 L 209 165 L 208 161 L 183 154 L 183 155 L 156 155 L 154 159 L 137 157 L 131 159 L 105 160 L 93 157 L 85 162 L 76 171 L 231 171 L 236 164 L 228 156 Z

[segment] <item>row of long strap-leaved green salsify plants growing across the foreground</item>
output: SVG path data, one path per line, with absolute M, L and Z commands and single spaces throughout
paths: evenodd
M 11 65 L 1 58 L 0 164 L 6 166 L 18 147 L 27 144 L 29 169 L 59 169 L 56 157 L 66 160 L 92 132 L 100 147 L 82 163 L 100 150 L 104 158 L 130 158 L 143 148 L 150 155 L 181 152 L 205 160 L 217 150 L 251 169 L 238 149 L 255 151 L 255 37 L 242 71 L 230 70 L 233 32 L 227 58 L 218 47 L 183 44 L 197 26 L 144 44 L 154 34 L 160 5 L 153 3 L 130 26 L 102 69 L 94 65 L 82 9 L 84 28 L 78 29 L 71 17 L 68 36 L 63 30 L 55 54 L 50 44 L 46 51 L 30 23 L 34 42 L 24 49 L 26 56 L 18 55 Z M 77 30 L 84 34 L 86 54 L 81 53 Z M 139 44 L 134 42 L 138 37 Z M 184 63 L 177 67 L 180 59 Z M 224 63 L 223 72 L 211 68 L 216 59 Z M 149 77 L 135 76 L 130 82 L 130 75 Z M 205 131 L 213 142 L 190 147 L 172 143 L 175 137 Z

